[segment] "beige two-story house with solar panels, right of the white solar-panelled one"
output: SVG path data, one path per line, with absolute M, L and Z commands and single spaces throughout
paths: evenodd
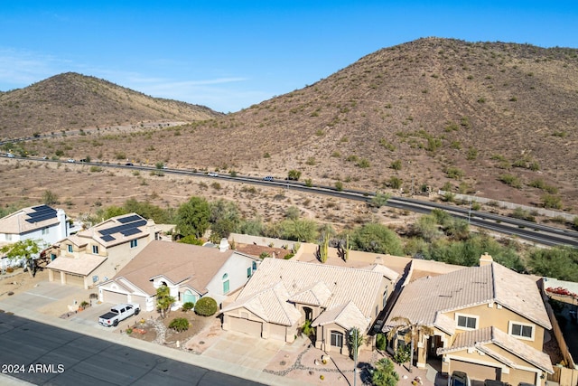
M 85 288 L 107 281 L 155 237 L 154 221 L 135 213 L 102 221 L 52 246 L 48 278 Z

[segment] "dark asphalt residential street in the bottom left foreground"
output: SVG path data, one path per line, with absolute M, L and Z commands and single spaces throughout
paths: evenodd
M 38 385 L 259 384 L 6 313 L 0 373 Z

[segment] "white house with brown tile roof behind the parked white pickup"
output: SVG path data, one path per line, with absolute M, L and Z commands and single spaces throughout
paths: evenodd
M 247 283 L 260 261 L 228 249 L 227 240 L 221 240 L 219 248 L 154 240 L 115 278 L 98 286 L 98 296 L 103 302 L 135 302 L 153 311 L 156 289 L 167 286 L 176 299 L 173 309 L 200 297 L 220 304 Z

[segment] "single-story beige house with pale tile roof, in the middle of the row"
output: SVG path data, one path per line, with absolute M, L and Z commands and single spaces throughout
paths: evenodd
M 387 274 L 391 271 L 387 270 Z M 223 305 L 224 330 L 293 342 L 306 320 L 314 344 L 349 354 L 354 327 L 367 334 L 386 306 L 394 281 L 380 268 L 345 268 L 303 261 L 264 259 L 238 297 Z M 368 349 L 370 345 L 361 349 Z

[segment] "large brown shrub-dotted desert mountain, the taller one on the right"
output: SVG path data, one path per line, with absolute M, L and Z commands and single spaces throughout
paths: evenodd
M 126 134 L 123 150 L 174 167 L 275 178 L 297 169 L 312 184 L 373 192 L 444 187 L 536 205 L 549 194 L 572 210 L 576 127 L 578 50 L 425 38 L 234 114 Z M 101 136 L 99 155 L 114 161 L 119 139 Z M 86 140 L 70 147 L 96 151 Z

